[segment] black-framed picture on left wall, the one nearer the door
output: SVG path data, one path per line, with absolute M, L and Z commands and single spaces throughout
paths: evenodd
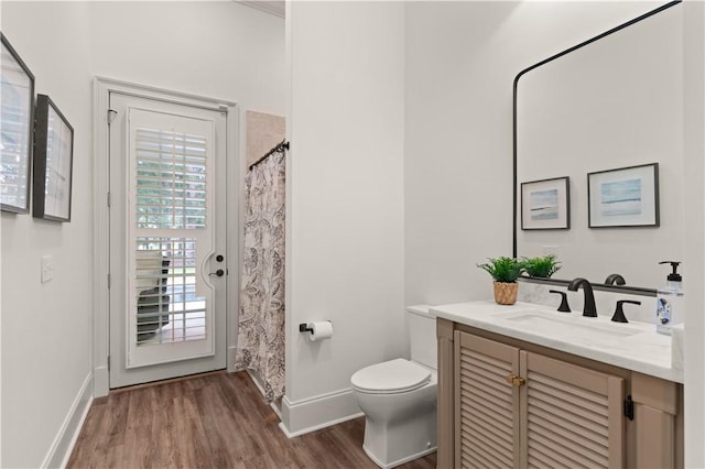
M 46 95 L 36 96 L 32 215 L 70 221 L 74 128 Z

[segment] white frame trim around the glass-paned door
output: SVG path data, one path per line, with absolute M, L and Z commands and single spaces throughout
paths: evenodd
M 214 99 L 185 92 L 139 85 L 111 78 L 94 78 L 94 291 L 93 291 L 93 393 L 94 397 L 108 395 L 110 390 L 110 373 L 108 360 L 110 355 L 110 318 L 108 292 L 109 272 L 109 212 L 108 189 L 109 177 L 109 132 L 108 132 L 108 99 L 110 92 L 122 92 L 143 98 L 158 99 L 186 106 L 212 109 L 227 113 L 227 149 L 226 149 L 226 198 L 237 200 L 228 207 L 227 219 L 227 259 L 230 269 L 226 280 L 226 324 L 227 367 L 232 370 L 236 332 L 230 329 L 237 327 L 232 312 L 239 310 L 239 219 L 241 201 L 240 174 L 242 163 L 239 157 L 240 142 L 237 139 L 239 127 L 239 109 L 235 101 Z M 235 324 L 234 324 L 235 323 Z

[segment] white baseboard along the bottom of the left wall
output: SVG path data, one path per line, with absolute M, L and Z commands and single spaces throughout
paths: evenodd
M 56 438 L 54 438 L 51 449 L 44 458 L 44 461 L 42 461 L 43 468 L 66 467 L 91 403 L 93 375 L 88 374 L 64 419 L 64 424 L 58 430 Z

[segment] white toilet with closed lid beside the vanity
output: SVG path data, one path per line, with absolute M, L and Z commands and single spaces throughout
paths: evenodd
M 411 360 L 371 364 L 350 378 L 365 413 L 362 449 L 381 468 L 436 450 L 436 320 L 429 306 L 406 308 Z

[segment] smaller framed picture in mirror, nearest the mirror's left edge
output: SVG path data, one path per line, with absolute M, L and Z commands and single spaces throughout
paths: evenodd
M 567 230 L 571 228 L 570 178 L 521 183 L 521 229 Z

